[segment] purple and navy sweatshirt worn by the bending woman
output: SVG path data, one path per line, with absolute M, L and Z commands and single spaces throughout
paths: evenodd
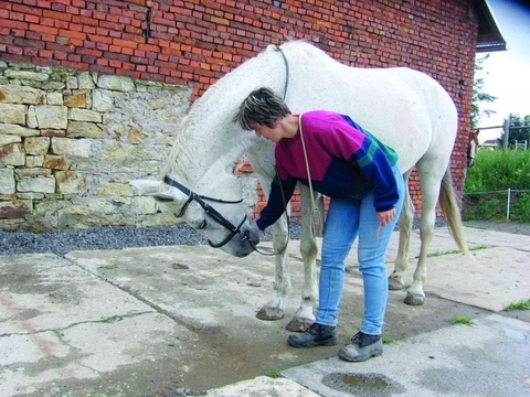
M 377 212 L 394 207 L 399 200 L 392 170 L 398 162 L 395 151 L 348 116 L 336 112 L 305 112 L 301 126 L 314 190 L 333 198 L 349 196 L 369 186 Z M 277 142 L 274 154 L 277 173 L 267 205 L 256 221 L 262 230 L 282 216 L 298 181 L 308 185 L 299 130 L 294 138 Z

